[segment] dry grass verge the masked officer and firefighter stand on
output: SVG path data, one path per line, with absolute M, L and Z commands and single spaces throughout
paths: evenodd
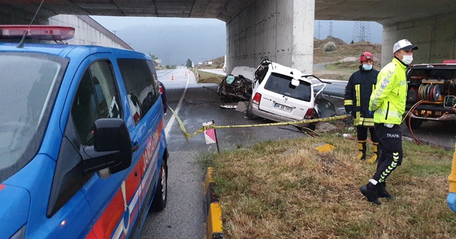
M 336 149 L 318 153 L 318 142 Z M 214 166 L 226 238 L 456 238 L 445 200 L 451 151 L 403 142 L 403 165 L 388 178 L 396 199 L 373 206 L 358 188 L 375 166 L 353 159 L 356 142 L 340 134 L 238 148 L 202 156 Z

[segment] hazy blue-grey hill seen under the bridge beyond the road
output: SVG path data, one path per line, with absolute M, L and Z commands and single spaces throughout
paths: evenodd
M 134 25 L 117 36 L 135 51 L 156 55 L 162 65 L 185 65 L 224 55 L 226 30 L 219 25 Z

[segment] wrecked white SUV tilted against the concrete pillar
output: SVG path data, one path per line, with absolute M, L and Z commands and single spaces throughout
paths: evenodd
M 312 83 L 311 80 L 320 83 Z M 327 83 L 314 75 L 262 58 L 254 73 L 254 87 L 246 115 L 271 119 L 276 122 L 299 121 L 336 114 L 332 102 L 321 92 Z M 320 88 L 314 93 L 314 88 Z

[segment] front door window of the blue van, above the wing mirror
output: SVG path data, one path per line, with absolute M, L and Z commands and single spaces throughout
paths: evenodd
M 108 61 L 92 63 L 83 74 L 71 115 L 81 144 L 93 145 L 93 124 L 100 118 L 120 118 L 113 70 Z

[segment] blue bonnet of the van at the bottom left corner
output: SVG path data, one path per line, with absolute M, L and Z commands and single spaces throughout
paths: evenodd
M 30 194 L 24 188 L 0 184 L 0 238 L 11 238 L 27 223 Z

